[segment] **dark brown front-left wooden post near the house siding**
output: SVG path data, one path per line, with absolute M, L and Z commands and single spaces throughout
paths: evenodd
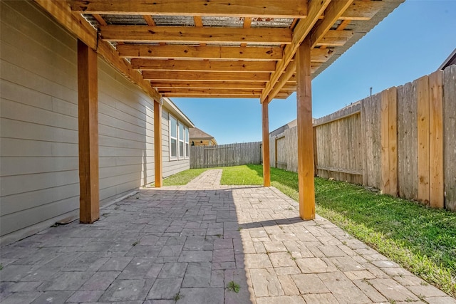
M 97 53 L 78 40 L 79 219 L 100 218 L 98 186 L 98 64 Z

